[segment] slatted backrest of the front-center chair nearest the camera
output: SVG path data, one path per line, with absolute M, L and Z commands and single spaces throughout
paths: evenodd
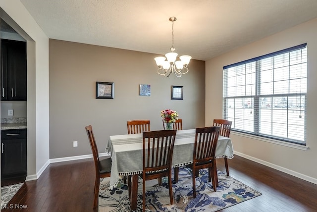
M 143 132 L 143 170 L 146 172 L 171 167 L 176 130 Z

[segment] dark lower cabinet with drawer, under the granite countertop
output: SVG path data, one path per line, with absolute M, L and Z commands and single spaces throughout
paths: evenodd
M 1 130 L 1 179 L 26 177 L 26 129 Z

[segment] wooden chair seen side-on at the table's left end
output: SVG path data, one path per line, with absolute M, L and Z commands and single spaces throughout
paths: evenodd
M 100 186 L 100 178 L 110 177 L 111 171 L 111 158 L 99 159 L 98 148 L 95 141 L 95 136 L 93 133 L 93 128 L 91 125 L 86 126 L 86 132 L 89 138 L 91 150 L 93 152 L 93 158 L 95 162 L 95 188 L 94 188 L 94 212 L 98 212 L 98 194 Z

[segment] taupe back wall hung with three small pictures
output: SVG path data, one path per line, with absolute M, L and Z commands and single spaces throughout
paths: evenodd
M 192 60 L 181 78 L 165 78 L 155 56 L 50 40 L 50 158 L 91 154 L 89 124 L 100 153 L 110 135 L 127 134 L 127 120 L 150 119 L 151 130 L 162 129 L 162 109 L 176 110 L 184 129 L 205 126 L 205 61 Z M 114 82 L 113 100 L 96 99 L 96 81 Z M 140 84 L 151 85 L 150 97 L 139 96 Z M 171 85 L 184 86 L 184 100 L 170 99 Z

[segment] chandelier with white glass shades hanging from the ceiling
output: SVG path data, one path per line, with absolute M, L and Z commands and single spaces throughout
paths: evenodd
M 158 56 L 154 59 L 159 66 L 158 74 L 168 77 L 173 72 L 177 77 L 181 77 L 188 72 L 187 65 L 192 57 L 182 55 L 179 57 L 180 60 L 176 61 L 177 53 L 174 53 L 174 21 L 176 21 L 176 17 L 170 17 L 169 21 L 172 22 L 172 47 L 170 48 L 172 52 L 166 53 L 166 58 L 164 56 Z

